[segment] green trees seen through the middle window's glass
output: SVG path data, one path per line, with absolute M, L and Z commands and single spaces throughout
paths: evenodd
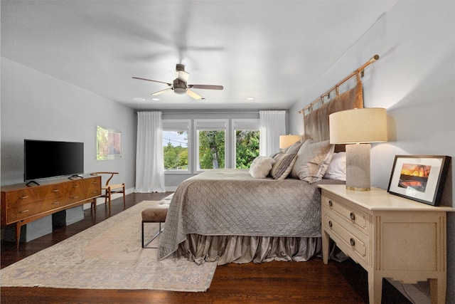
M 225 167 L 225 131 L 199 130 L 199 168 L 218 169 Z

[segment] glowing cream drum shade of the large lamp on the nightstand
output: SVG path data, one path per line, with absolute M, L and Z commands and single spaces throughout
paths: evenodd
M 334 112 L 328 122 L 331 144 L 387 142 L 387 110 L 383 108 Z

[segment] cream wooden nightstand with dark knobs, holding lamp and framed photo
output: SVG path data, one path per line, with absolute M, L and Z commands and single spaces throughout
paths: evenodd
M 429 279 L 432 303 L 446 299 L 446 206 L 430 206 L 372 188 L 321 184 L 322 255 L 329 239 L 368 271 L 370 303 L 381 303 L 382 278 Z

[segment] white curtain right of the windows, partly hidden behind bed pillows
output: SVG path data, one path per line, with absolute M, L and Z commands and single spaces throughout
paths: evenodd
M 286 134 L 286 111 L 259 111 L 259 155 L 279 151 L 279 136 Z

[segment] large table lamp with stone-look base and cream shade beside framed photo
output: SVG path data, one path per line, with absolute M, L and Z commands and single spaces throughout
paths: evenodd
M 346 145 L 346 189 L 370 190 L 370 142 L 387 141 L 387 110 L 363 108 L 328 117 L 331 144 Z

